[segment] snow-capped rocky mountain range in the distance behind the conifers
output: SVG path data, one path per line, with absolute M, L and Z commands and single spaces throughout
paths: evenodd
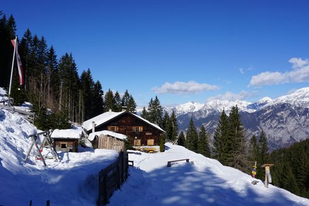
M 206 104 L 188 102 L 165 110 L 175 111 L 180 130 L 187 129 L 192 117 L 196 128 L 201 128 L 203 124 L 212 138 L 222 110 L 225 109 L 228 114 L 235 105 L 240 110 L 247 139 L 253 134 L 259 137 L 260 131 L 264 130 L 270 150 L 287 147 L 296 141 L 309 138 L 309 87 L 275 100 L 271 98 L 262 98 L 258 102 L 214 100 Z

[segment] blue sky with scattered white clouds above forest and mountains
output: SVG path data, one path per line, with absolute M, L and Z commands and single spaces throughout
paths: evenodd
M 104 91 L 139 107 L 255 101 L 308 87 L 309 1 L 1 1 L 21 38 L 30 28 L 91 69 Z

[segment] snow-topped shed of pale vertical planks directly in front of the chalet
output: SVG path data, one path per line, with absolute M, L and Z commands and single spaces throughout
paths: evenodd
M 116 150 L 118 152 L 125 152 L 126 147 L 124 141 L 127 139 L 126 135 L 114 133 L 108 130 L 90 133 L 88 139 L 91 141 L 93 148 Z

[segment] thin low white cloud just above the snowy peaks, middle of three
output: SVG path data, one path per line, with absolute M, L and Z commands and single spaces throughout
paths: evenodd
M 240 93 L 231 93 L 227 91 L 225 94 L 219 94 L 207 99 L 207 102 L 212 100 L 229 100 L 229 101 L 236 101 L 236 100 L 247 100 L 249 98 L 253 98 L 256 96 L 256 92 L 249 93 L 247 91 L 240 91 Z

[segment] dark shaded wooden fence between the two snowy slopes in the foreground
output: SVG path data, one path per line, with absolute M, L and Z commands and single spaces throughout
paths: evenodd
M 128 177 L 128 154 L 119 152 L 117 160 L 99 172 L 99 198 L 97 205 L 106 205 L 115 190 Z

